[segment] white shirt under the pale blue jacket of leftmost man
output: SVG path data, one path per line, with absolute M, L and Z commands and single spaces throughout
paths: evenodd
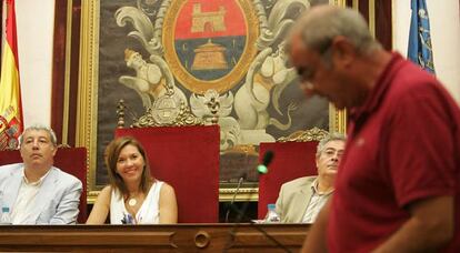
M 37 182 L 30 183 L 26 178 L 26 170 L 22 175 L 22 182 L 19 186 L 18 198 L 12 206 L 11 223 L 12 224 L 36 224 L 34 221 L 29 221 L 33 214 L 34 200 L 37 193 L 40 191 L 40 186 L 43 183 L 44 178 L 50 173 L 50 170 L 40 178 Z

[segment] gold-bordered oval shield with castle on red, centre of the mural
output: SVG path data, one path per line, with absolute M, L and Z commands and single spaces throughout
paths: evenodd
M 257 53 L 256 11 L 248 1 L 173 1 L 163 23 L 164 58 L 188 90 L 224 93 Z

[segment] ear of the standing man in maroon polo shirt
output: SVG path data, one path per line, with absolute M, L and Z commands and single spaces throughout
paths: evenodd
M 357 57 L 356 48 L 342 36 L 333 38 L 331 48 L 334 65 L 348 68 Z

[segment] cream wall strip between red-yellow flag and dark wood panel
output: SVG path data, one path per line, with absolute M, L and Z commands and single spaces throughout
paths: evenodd
M 49 125 L 54 0 L 17 0 L 16 18 L 24 126 Z

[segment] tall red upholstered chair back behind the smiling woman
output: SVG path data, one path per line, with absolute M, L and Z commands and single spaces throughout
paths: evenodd
M 219 126 L 118 129 L 146 149 L 152 176 L 172 185 L 179 223 L 219 221 Z

